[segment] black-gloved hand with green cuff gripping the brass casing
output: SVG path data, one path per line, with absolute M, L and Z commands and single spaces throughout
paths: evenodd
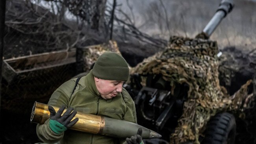
M 76 111 L 73 111 L 74 109 L 72 107 L 69 107 L 67 111 L 61 116 L 63 113 L 65 106 L 62 106 L 56 113 L 54 108 L 52 106 L 48 106 L 48 109 L 50 111 L 50 128 L 55 133 L 62 133 L 63 131 L 67 130 L 67 128 L 72 127 L 76 122 L 78 121 L 78 118 L 74 118 L 76 115 Z M 73 111 L 73 112 L 72 112 Z M 72 120 L 72 121 L 71 121 Z

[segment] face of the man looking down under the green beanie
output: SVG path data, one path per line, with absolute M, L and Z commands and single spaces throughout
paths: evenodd
M 115 97 L 118 92 L 122 92 L 124 81 L 106 80 L 96 77 L 94 77 L 94 80 L 100 96 L 105 100 Z

